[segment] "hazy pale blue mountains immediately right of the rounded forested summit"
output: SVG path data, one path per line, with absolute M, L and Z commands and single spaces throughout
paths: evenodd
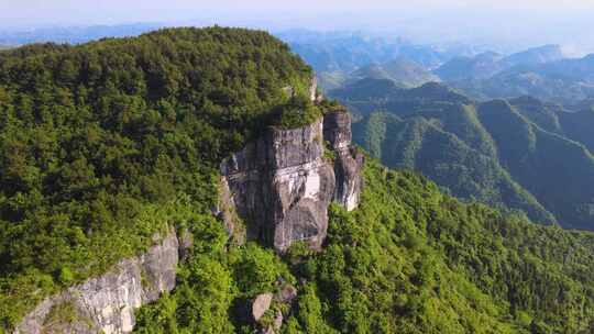
M 430 70 L 449 59 L 476 54 L 474 48 L 465 45 L 437 47 L 398 37 L 356 33 L 292 31 L 278 36 L 314 67 L 326 89 L 336 89 L 364 77 L 416 87 L 439 80 Z

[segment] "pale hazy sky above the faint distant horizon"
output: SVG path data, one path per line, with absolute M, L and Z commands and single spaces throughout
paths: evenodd
M 426 14 L 443 10 L 487 13 L 521 10 L 554 13 L 594 10 L 593 0 L 0 0 L 0 25 L 84 24 L 138 21 L 172 21 L 226 14 L 223 19 L 249 19 L 253 14 L 389 11 L 394 15 Z M 242 18 L 244 16 L 244 18 Z

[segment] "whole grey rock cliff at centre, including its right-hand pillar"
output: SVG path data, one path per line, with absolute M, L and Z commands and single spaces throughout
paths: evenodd
M 299 129 L 271 127 L 221 164 L 228 227 L 238 230 L 229 214 L 234 211 L 245 224 L 248 240 L 279 252 L 297 241 L 319 249 L 330 203 L 337 201 L 348 210 L 359 203 L 361 165 L 362 156 L 351 148 L 345 112 L 330 112 Z

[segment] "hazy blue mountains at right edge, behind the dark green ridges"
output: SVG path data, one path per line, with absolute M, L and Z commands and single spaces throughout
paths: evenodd
M 506 57 L 495 53 L 457 57 L 433 73 L 477 100 L 534 96 L 575 109 L 574 104 L 594 99 L 594 55 L 565 58 L 557 45 Z

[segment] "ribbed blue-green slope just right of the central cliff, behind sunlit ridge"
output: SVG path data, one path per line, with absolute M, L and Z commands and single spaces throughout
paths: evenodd
M 382 157 L 384 164 L 418 170 L 438 185 L 447 185 L 444 189 L 460 198 L 505 204 L 525 211 L 536 222 L 554 222 L 554 216 L 514 181 L 496 158 L 470 147 L 433 121 L 374 113 L 355 124 L 355 133 L 366 134 L 364 140 L 355 136 L 355 141 L 364 141 L 365 147 Z

